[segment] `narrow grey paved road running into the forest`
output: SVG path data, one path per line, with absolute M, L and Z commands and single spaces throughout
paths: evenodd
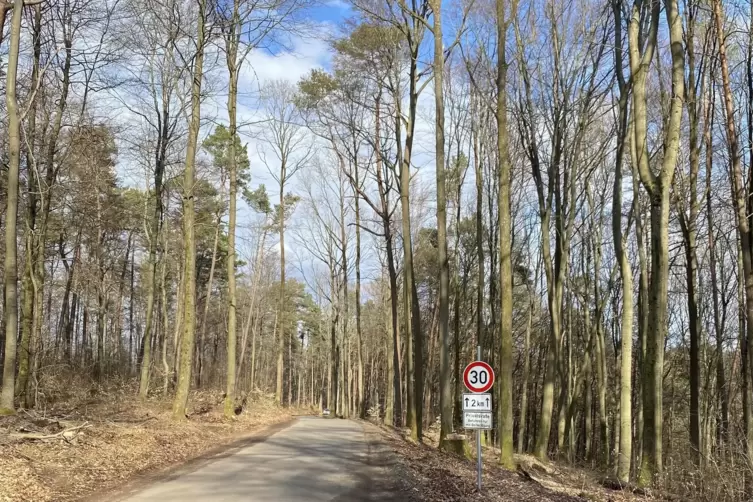
M 402 501 L 385 456 L 358 422 L 299 418 L 290 427 L 192 472 L 172 476 L 126 502 Z

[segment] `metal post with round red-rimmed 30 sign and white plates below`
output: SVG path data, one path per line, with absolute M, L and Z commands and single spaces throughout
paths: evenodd
M 476 347 L 476 361 L 466 366 L 463 382 L 473 394 L 463 394 L 463 428 L 476 429 L 476 482 L 481 491 L 481 433 L 492 428 L 494 370 L 481 360 L 481 346 Z

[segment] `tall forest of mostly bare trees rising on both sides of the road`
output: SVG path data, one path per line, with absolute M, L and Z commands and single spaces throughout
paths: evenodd
M 753 2 L 5 0 L 0 28 L 0 415 L 134 381 L 175 421 L 269 393 L 462 455 L 480 347 L 505 468 L 753 498 Z

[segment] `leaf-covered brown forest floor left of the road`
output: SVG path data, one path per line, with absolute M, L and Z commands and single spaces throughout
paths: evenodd
M 0 417 L 0 501 L 80 500 L 164 471 L 264 426 L 290 420 L 270 396 L 249 398 L 232 420 L 222 393 L 193 393 L 189 420 L 169 400 L 140 402 L 133 385 L 69 395 L 47 409 Z

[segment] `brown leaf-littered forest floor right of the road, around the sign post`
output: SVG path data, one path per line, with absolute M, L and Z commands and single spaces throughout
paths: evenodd
M 517 472 L 497 464 L 498 453 L 483 451 L 482 493 L 476 490 L 476 460 L 464 459 L 437 449 L 434 430 L 423 444 L 411 441 L 405 433 L 381 427 L 382 437 L 396 455 L 395 472 L 412 487 L 411 499 L 421 502 L 622 502 L 654 500 L 624 491 L 605 488 L 603 475 L 557 463 L 543 465 L 530 456 L 516 456 Z M 475 449 L 474 449 L 475 452 Z M 475 455 L 475 453 L 474 453 Z

